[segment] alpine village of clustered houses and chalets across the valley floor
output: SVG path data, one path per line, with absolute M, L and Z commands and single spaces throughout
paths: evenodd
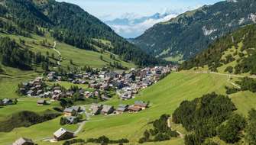
M 63 117 L 60 118 L 60 124 L 84 124 L 92 115 L 115 115 L 124 112 L 137 113 L 150 107 L 150 102 L 134 101 L 132 105 L 120 104 L 116 108 L 112 105 L 105 105 L 101 102 L 108 101 L 116 95 L 121 100 L 135 98 L 136 94 L 141 89 L 145 89 L 150 85 L 158 82 L 160 79 L 167 76 L 176 67 L 170 66 L 155 66 L 144 69 L 130 69 L 128 71 L 118 70 L 99 70 L 92 69 L 90 72 L 80 73 L 57 73 L 49 72 L 45 76 L 37 77 L 30 82 L 22 82 L 18 85 L 18 94 L 32 98 L 38 98 L 37 105 L 50 105 L 51 101 L 61 101 L 66 98 L 76 99 L 96 99 L 96 103 L 89 105 L 66 105 L 63 108 Z M 53 82 L 49 85 L 48 82 Z M 65 89 L 58 82 L 69 82 L 73 84 L 70 89 Z M 79 88 L 76 85 L 86 85 L 88 89 Z M 115 93 L 110 93 L 115 92 Z M 14 104 L 13 100 L 6 98 L 10 104 Z M 14 100 L 17 101 L 17 100 Z M 0 101 L 2 102 L 2 101 Z M 17 102 L 15 102 L 17 103 Z M 12 105 L 11 104 L 11 105 Z M 74 103 L 75 104 L 75 103 Z M 7 104 L 8 105 L 8 104 Z M 66 130 L 61 127 L 53 133 L 50 142 L 59 140 L 68 140 L 76 137 L 75 132 Z M 34 144 L 32 140 L 21 137 L 16 140 L 15 145 Z

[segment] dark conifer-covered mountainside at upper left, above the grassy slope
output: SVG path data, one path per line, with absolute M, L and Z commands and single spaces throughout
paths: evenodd
M 11 21 L 20 31 L 39 35 L 49 31 L 60 42 L 93 51 L 96 48 L 92 44 L 99 44 L 95 39 L 108 40 L 112 47 L 104 49 L 117 54 L 122 60 L 139 66 L 157 62 L 77 5 L 54 0 L 2 0 L 1 8 L 2 18 Z

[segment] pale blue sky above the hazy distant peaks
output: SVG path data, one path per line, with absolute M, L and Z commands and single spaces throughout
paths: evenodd
M 126 13 L 152 15 L 163 11 L 186 11 L 220 0 L 57 0 L 79 5 L 100 19 L 117 18 Z

